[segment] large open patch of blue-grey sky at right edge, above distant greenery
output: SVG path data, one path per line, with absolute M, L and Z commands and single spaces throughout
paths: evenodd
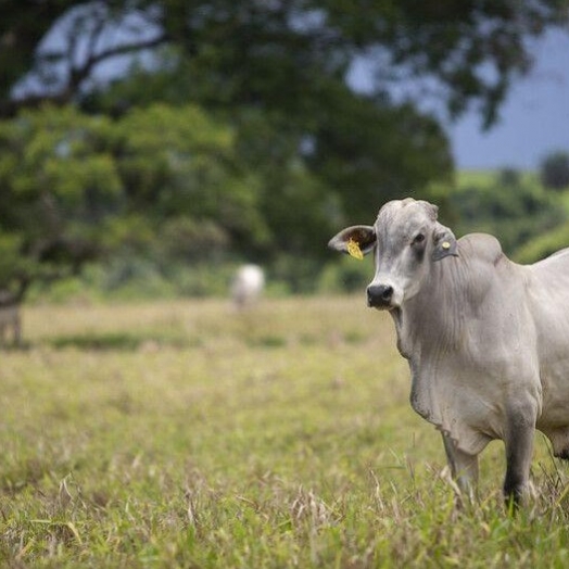
M 458 168 L 539 169 L 548 153 L 569 152 L 569 34 L 551 31 L 535 45 L 534 58 L 490 131 L 481 131 L 473 113 L 447 126 Z

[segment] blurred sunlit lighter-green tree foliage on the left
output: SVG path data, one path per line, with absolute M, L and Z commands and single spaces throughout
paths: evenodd
M 104 253 L 211 258 L 269 239 L 260 182 L 235 136 L 187 105 L 121 121 L 47 106 L 0 123 L 0 292 L 76 273 Z

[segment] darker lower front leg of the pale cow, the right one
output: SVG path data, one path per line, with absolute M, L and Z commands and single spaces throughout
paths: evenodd
M 530 465 L 533 455 L 536 409 L 534 405 L 522 405 L 509 409 L 506 420 L 506 479 L 504 496 L 518 506 L 528 490 Z

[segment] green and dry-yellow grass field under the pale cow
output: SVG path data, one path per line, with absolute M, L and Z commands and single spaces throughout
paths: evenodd
M 569 479 L 502 506 L 502 445 L 455 507 L 363 295 L 37 306 L 0 353 L 0 566 L 389 568 L 569 564 Z

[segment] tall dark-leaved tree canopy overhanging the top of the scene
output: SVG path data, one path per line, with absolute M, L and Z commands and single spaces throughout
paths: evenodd
M 568 18 L 566 0 L 46 0 L 26 10 L 18 0 L 4 4 L 0 63 L 3 58 L 11 72 L 0 84 L 0 115 L 35 104 L 38 80 L 49 81 L 41 97 L 85 101 L 103 63 L 144 53 L 144 85 L 154 89 L 141 91 L 139 81 L 136 92 L 117 98 L 115 91 L 109 112 L 152 97 L 192 100 L 229 119 L 261 111 L 341 193 L 351 218 L 364 213 L 356 204 L 368 207 L 368 197 L 375 203 L 420 191 L 452 169 L 438 121 L 418 110 L 417 98 L 395 100 L 392 86 L 434 79 L 434 94 L 451 115 L 476 104 L 489 126 L 511 80 L 530 67 L 526 39 Z M 53 27 L 59 41 L 40 45 L 42 31 Z M 8 61 L 14 50 L 18 58 Z M 366 96 L 346 86 L 357 58 L 374 71 Z M 157 83 L 147 80 L 156 73 Z M 15 78 L 24 77 L 14 100 Z M 422 103 L 425 89 L 416 92 Z M 91 109 L 100 109 L 92 101 Z M 346 185 L 352 173 L 358 179 Z

